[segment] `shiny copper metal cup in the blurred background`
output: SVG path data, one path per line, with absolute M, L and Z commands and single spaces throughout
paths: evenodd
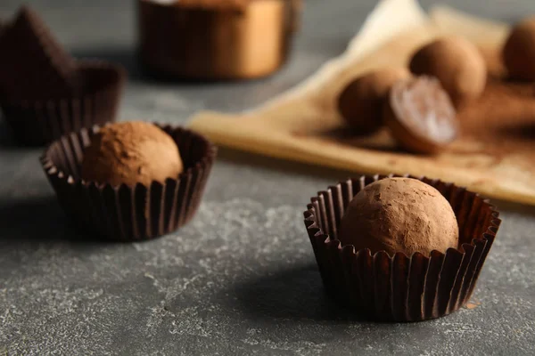
M 161 77 L 268 76 L 284 64 L 299 14 L 300 0 L 227 7 L 138 0 L 141 61 Z

